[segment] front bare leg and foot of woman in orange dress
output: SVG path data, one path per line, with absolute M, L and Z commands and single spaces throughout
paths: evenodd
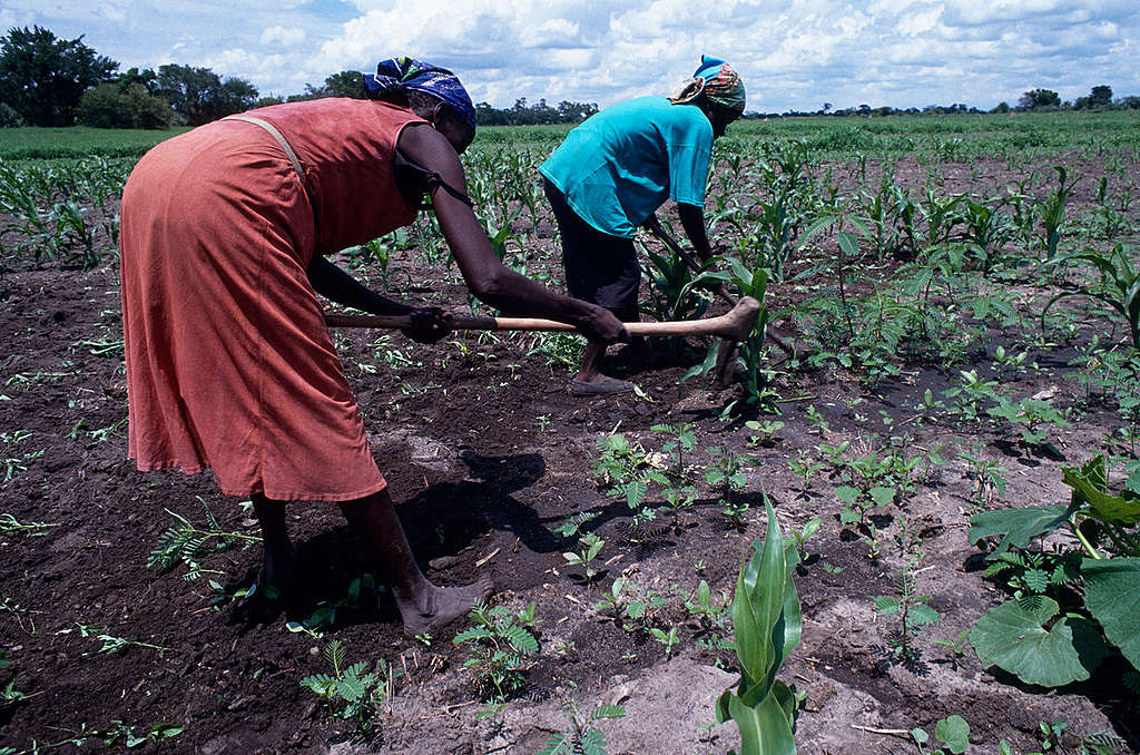
M 370 549 L 382 578 L 392 588 L 404 619 L 404 633 L 408 636 L 437 631 L 471 610 L 475 601 L 491 594 L 491 583 L 487 578 L 464 587 L 439 587 L 427 582 L 412 555 L 412 546 L 386 489 L 340 505 L 349 525 L 360 533 Z

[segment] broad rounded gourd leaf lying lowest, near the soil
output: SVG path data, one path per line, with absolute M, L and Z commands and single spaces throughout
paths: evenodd
M 1078 616 L 1066 616 L 1045 628 L 1059 608 L 1045 595 L 1035 610 L 1007 601 L 977 620 L 970 644 L 984 666 L 1000 666 L 1029 684 L 1062 687 L 1084 681 L 1107 649 L 1096 626 Z

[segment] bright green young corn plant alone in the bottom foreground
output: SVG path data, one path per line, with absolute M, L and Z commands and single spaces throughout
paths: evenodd
M 763 543 L 752 543 L 732 603 L 740 683 L 717 699 L 716 721 L 736 723 L 740 755 L 795 755 L 792 723 L 801 697 L 776 674 L 803 631 L 799 593 L 792 582 L 799 554 L 784 544 L 772 504 L 765 501 L 764 508 L 767 534 Z

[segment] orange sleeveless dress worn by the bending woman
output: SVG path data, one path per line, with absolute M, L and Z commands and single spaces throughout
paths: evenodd
M 374 100 L 252 111 L 148 152 L 123 190 L 129 455 L 212 468 L 222 493 L 349 501 L 384 488 L 306 269 L 415 218 L 392 159 L 423 123 Z

